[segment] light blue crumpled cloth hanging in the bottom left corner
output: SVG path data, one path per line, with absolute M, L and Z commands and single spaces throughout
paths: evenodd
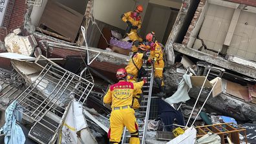
M 0 132 L 5 134 L 5 144 L 24 144 L 26 141 L 23 130 L 17 121 L 21 121 L 22 113 L 16 110 L 17 101 L 12 102 L 5 110 L 5 125 L 0 129 Z

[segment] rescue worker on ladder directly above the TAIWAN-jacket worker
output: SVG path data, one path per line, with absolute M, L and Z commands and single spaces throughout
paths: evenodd
M 142 68 L 143 60 L 147 61 L 148 57 L 146 56 L 147 46 L 141 44 L 138 46 L 138 52 L 134 53 L 131 57 L 125 70 L 127 71 L 127 79 L 130 82 L 136 82 L 138 77 L 138 71 Z M 138 109 L 140 107 L 140 101 L 142 99 L 142 89 L 134 90 L 132 108 Z

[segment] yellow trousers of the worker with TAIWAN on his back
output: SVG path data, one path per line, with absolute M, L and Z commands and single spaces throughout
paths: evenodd
M 109 128 L 109 142 L 118 144 L 121 141 L 123 127 L 126 127 L 131 138 L 130 144 L 140 144 L 140 139 L 138 138 L 138 124 L 134 116 L 133 108 L 125 108 L 120 110 L 112 110 Z

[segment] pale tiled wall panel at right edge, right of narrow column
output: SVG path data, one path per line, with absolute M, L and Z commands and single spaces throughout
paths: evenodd
M 248 23 L 246 25 L 246 23 Z M 228 48 L 234 54 L 256 61 L 256 14 L 242 11 Z

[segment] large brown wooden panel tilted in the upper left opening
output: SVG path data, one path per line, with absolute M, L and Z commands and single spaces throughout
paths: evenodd
M 74 42 L 76 36 L 78 36 L 82 21 L 83 15 L 76 12 L 76 10 L 72 10 L 56 1 L 49 0 L 45 6 L 39 24 L 47 26 Z

